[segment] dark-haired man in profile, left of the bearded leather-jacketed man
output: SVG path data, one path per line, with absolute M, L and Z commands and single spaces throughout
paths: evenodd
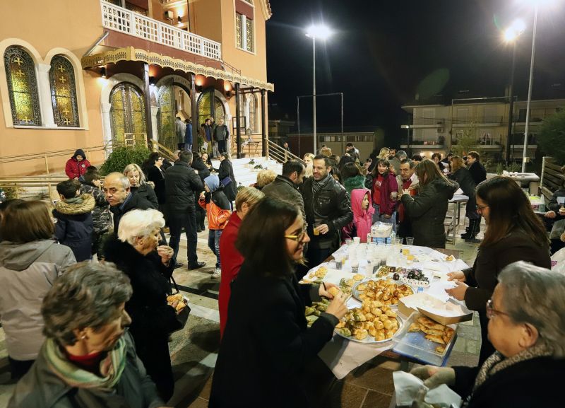
M 265 187 L 263 193 L 265 197 L 274 197 L 283 199 L 292 204 L 297 204 L 304 214 L 304 199 L 298 191 L 298 186 L 302 185 L 306 168 L 297 160 L 290 160 L 283 164 L 283 175 L 277 178 Z

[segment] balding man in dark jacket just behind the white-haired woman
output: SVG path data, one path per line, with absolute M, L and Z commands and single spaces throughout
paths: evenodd
M 129 189 L 128 177 L 121 173 L 110 173 L 104 179 L 104 194 L 114 214 L 114 233 L 118 233 L 119 220 L 133 209 L 152 209 L 153 204 Z

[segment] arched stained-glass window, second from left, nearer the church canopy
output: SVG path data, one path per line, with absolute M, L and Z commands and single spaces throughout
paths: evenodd
M 73 64 L 62 55 L 51 60 L 49 70 L 53 119 L 57 126 L 78 127 L 75 71 Z

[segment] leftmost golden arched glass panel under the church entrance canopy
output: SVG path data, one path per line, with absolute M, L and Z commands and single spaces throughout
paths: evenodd
M 121 82 L 110 93 L 112 140 L 145 143 L 145 102 L 143 92 L 133 83 Z

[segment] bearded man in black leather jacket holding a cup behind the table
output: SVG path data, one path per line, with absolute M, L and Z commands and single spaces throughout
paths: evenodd
M 318 155 L 314 157 L 312 177 L 302 185 L 308 234 L 311 237 L 306 255 L 310 268 L 321 264 L 338 249 L 341 229 L 353 220 L 349 194 L 333 179 L 330 171 L 329 159 Z

